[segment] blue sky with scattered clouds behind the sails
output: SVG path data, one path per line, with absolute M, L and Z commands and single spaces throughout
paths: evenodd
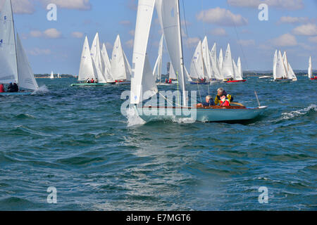
M 15 30 L 23 38 L 30 64 L 35 73 L 77 75 L 82 44 L 89 43 L 96 32 L 106 43 L 109 56 L 116 35 L 120 34 L 123 49 L 132 60 L 133 30 L 135 30 L 135 0 L 12 0 Z M 185 13 L 182 8 L 185 6 Z M 0 0 L 0 8 L 4 0 Z M 186 20 L 185 64 L 189 63 L 199 39 L 205 35 L 209 46 L 231 45 L 232 56 L 242 59 L 244 70 L 272 70 L 275 49 L 287 51 L 295 70 L 308 68 L 312 56 L 317 68 L 317 1 L 316 0 L 181 0 L 182 20 Z M 268 4 L 268 21 L 258 18 L 258 6 Z M 57 5 L 57 21 L 46 19 L 46 6 Z M 202 13 L 203 11 L 203 13 Z M 186 18 L 184 18 L 186 15 Z M 161 38 L 157 15 L 151 27 L 148 54 L 151 64 L 156 60 Z M 243 50 L 242 50 L 243 49 Z M 168 62 L 164 55 L 164 65 Z M 163 69 L 166 72 L 166 69 Z

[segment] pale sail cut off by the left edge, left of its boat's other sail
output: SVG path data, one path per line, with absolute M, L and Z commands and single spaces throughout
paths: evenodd
M 12 6 L 6 0 L 0 14 L 0 84 L 11 82 L 18 82 L 18 65 Z

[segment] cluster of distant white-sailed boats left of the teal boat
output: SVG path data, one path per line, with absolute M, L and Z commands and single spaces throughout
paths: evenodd
M 103 86 L 106 84 L 130 84 L 132 69 L 127 56 L 123 51 L 120 36 L 118 35 L 113 45 L 111 60 L 108 57 L 106 45 L 99 42 L 97 33 L 89 48 L 88 38 L 85 37 L 80 60 L 78 84 L 72 86 Z M 94 80 L 94 82 L 87 82 Z

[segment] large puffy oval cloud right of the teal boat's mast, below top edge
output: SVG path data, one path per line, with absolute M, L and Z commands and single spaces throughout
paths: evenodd
M 248 20 L 242 15 L 235 15 L 229 10 L 219 7 L 201 11 L 197 15 L 197 20 L 223 26 L 243 26 L 248 24 Z

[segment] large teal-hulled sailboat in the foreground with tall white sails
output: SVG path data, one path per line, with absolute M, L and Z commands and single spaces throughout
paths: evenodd
M 168 106 L 153 106 L 144 101 L 159 93 L 147 57 L 149 31 L 154 13 L 154 4 L 161 20 L 166 46 L 170 54 L 174 70 L 178 74 L 178 82 L 182 90 L 178 103 Z M 137 115 L 146 122 L 152 120 L 174 120 L 175 118 L 195 120 L 198 122 L 219 122 L 235 120 L 252 120 L 266 106 L 258 108 L 220 107 L 195 108 L 188 105 L 186 95 L 185 67 L 182 51 L 182 32 L 180 25 L 179 0 L 139 0 L 137 8 L 137 23 L 135 28 L 135 44 L 133 50 L 133 65 L 130 105 L 135 108 Z

